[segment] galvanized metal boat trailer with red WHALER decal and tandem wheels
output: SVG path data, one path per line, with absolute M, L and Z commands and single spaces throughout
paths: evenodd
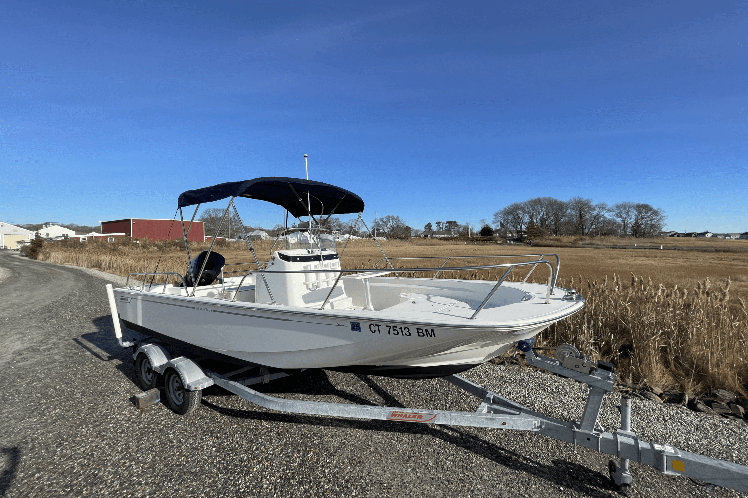
M 527 364 L 531 367 L 547 370 L 589 386 L 589 396 L 580 422 L 546 417 L 457 375 L 444 377 L 443 380 L 481 400 L 474 412 L 297 401 L 268 396 L 248 387 L 266 384 L 292 374 L 270 373 L 263 367 L 260 368 L 260 375 L 231 380 L 230 377 L 236 377 L 255 367 L 242 367 L 221 374 L 200 367 L 199 362 L 202 358 L 171 358 L 164 346 L 147 342 L 148 339 L 123 340 L 114 293 L 110 285 L 107 285 L 107 292 L 117 341 L 120 346 L 132 348 L 132 358 L 139 371 L 139 378 L 147 377 L 150 373 L 150 379 L 156 382 L 155 379 L 162 376 L 167 401 L 178 414 L 188 414 L 197 409 L 200 405 L 201 391 L 206 387 L 218 385 L 263 408 L 286 413 L 535 432 L 619 458 L 620 464 L 613 460 L 608 464 L 610 479 L 618 491 L 625 491 L 632 484 L 633 476 L 629 470 L 629 462 L 637 461 L 650 465 L 666 475 L 684 476 L 711 485 L 748 492 L 747 466 L 687 452 L 667 444 L 640 440 L 631 430 L 631 399 L 628 396 L 622 396 L 619 406 L 621 427 L 612 433 L 605 432 L 598 422 L 598 416 L 604 396 L 613 390 L 616 383 L 616 371 L 613 365 L 604 361 L 595 363 L 589 356 L 580 354 L 574 346 L 568 344 L 560 348 L 548 348 L 557 349 L 557 358 L 540 354 L 538 349 L 544 348 L 535 348 L 530 341 L 522 340 L 517 346 L 524 352 Z M 562 358 L 558 359 L 559 356 Z M 141 379 L 141 384 L 143 383 L 144 380 Z M 150 399 L 151 403 L 159 401 L 157 396 L 150 396 Z

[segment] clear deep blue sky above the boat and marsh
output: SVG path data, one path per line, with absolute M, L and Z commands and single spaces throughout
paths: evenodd
M 0 0 L 0 219 L 339 184 L 422 228 L 536 196 L 748 229 L 745 1 Z M 242 209 L 242 204 L 245 207 Z M 239 202 L 245 222 L 283 211 Z M 343 217 L 346 218 L 346 217 Z

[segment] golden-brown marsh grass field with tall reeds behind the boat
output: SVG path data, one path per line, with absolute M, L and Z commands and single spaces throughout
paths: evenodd
M 748 397 L 748 252 L 743 249 L 748 241 L 673 242 L 697 249 L 717 247 L 716 252 L 600 249 L 616 243 L 595 240 L 598 248 L 593 248 L 580 242 L 584 241 L 565 241 L 579 244 L 571 247 L 530 247 L 415 239 L 387 240 L 381 245 L 390 258 L 468 257 L 453 259 L 447 267 L 485 264 L 479 258 L 488 255 L 557 254 L 561 258 L 557 285 L 576 288 L 587 305 L 582 312 L 539 334 L 539 345 L 573 343 L 593 359 L 613 361 L 624 385 L 635 383 L 692 394 L 723 388 Z M 254 243 L 260 261 L 269 258 L 271 244 L 270 240 Z M 729 250 L 722 251 L 720 246 Z M 191 243 L 191 255 L 208 247 L 207 242 Z M 230 264 L 252 260 L 245 243 L 219 242 L 214 250 Z M 372 267 L 382 258 L 372 240 L 353 240 L 341 262 L 344 268 L 355 270 Z M 152 272 L 156 264 L 159 272 L 186 273 L 185 249 L 180 241 L 52 243 L 43 247 L 39 259 L 120 276 Z M 393 261 L 396 267 L 438 267 L 443 262 Z M 509 279 L 521 280 L 527 271 L 515 270 Z M 439 278 L 497 280 L 499 272 L 451 272 Z M 547 271 L 538 268 L 530 280 L 542 282 L 547 278 Z

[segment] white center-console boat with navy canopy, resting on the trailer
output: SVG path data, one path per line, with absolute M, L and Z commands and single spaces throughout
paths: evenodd
M 358 213 L 352 231 L 364 223 L 364 202 L 354 193 L 277 177 L 185 192 L 180 217 L 186 206 L 197 205 L 197 214 L 201 204 L 229 198 L 224 220 L 232 208 L 239 217 L 236 197 L 274 202 L 300 220 L 308 217 L 305 226 L 323 226 L 325 217 L 346 213 Z M 188 228 L 185 243 L 187 233 Z M 512 263 L 503 258 L 517 256 L 496 255 L 480 265 L 447 267 L 460 258 L 393 259 L 382 251 L 373 268 L 346 270 L 340 264 L 345 246 L 339 255 L 336 238 L 322 228 L 280 231 L 264 262 L 255 255 L 252 237 L 244 238 L 254 258 L 245 264 L 249 270 L 232 270 L 242 267 L 224 264 L 211 245 L 191 260 L 185 276 L 131 274 L 142 282 L 114 290 L 120 318 L 153 340 L 236 364 L 428 379 L 482 364 L 584 306 L 573 290 L 554 286 L 560 266 L 555 255 L 528 255 Z M 186 250 L 190 258 L 187 244 Z M 538 266 L 548 270 L 548 283 L 527 281 Z M 512 270 L 528 270 L 524 267 L 530 267 L 524 281 L 507 280 Z M 497 281 L 445 278 L 496 269 L 503 271 Z M 148 284 L 156 276 L 165 282 Z

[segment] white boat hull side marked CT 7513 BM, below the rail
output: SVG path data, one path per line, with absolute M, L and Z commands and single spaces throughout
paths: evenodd
M 238 364 L 326 368 L 397 378 L 468 370 L 533 337 L 558 318 L 529 326 L 408 321 L 377 312 L 218 302 L 117 289 L 131 329 Z

